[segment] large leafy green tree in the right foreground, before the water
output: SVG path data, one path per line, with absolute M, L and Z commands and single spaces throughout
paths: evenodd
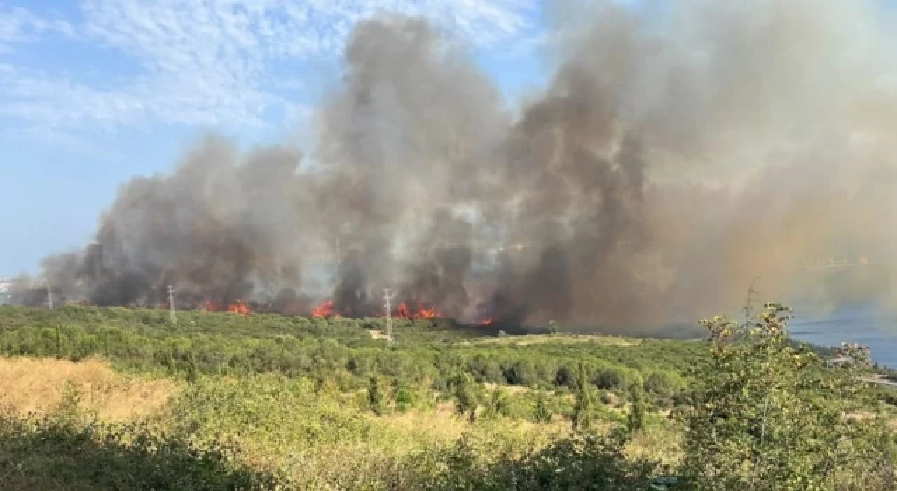
M 710 356 L 675 412 L 692 489 L 884 488 L 882 422 L 852 417 L 871 407 L 860 380 L 867 350 L 851 348 L 857 363 L 826 368 L 788 341 L 789 312 L 768 303 L 746 327 L 728 317 L 702 321 Z

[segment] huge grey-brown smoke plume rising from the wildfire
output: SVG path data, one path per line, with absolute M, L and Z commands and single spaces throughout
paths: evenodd
M 661 329 L 768 298 L 893 305 L 893 30 L 863 2 L 582 7 L 518 110 L 427 22 L 360 22 L 312 165 L 209 137 L 46 280 L 96 304 L 430 305 Z M 871 267 L 806 276 L 806 259 Z M 333 267 L 332 277 L 321 266 Z

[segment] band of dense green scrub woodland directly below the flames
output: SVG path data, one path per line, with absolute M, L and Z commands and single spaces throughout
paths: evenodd
M 475 381 L 531 387 L 564 385 L 580 361 L 617 389 L 634 377 L 663 373 L 677 383 L 701 346 L 681 341 L 573 336 L 509 336 L 447 320 L 396 320 L 396 346 L 369 329 L 383 320 L 273 314 L 179 313 L 66 306 L 53 311 L 0 307 L 0 354 L 80 360 L 100 355 L 118 368 L 186 375 L 283 373 L 333 378 L 361 387 L 370 375 L 434 386 L 456 373 Z M 606 339 L 608 342 L 579 342 Z M 623 339 L 625 343 L 620 343 Z M 611 342 L 613 341 L 613 342 Z M 622 346 L 625 345 L 625 346 Z

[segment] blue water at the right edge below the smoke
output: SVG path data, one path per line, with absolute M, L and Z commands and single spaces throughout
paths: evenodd
M 824 319 L 801 319 L 800 311 L 795 313 L 797 318 L 789 325 L 793 338 L 823 346 L 866 345 L 875 362 L 897 368 L 897 315 L 871 306 L 842 309 Z

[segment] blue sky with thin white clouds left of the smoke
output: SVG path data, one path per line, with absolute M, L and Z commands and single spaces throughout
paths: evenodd
M 0 276 L 90 241 L 118 187 L 213 130 L 312 143 L 354 22 L 423 14 L 509 100 L 544 83 L 539 0 L 0 0 Z

